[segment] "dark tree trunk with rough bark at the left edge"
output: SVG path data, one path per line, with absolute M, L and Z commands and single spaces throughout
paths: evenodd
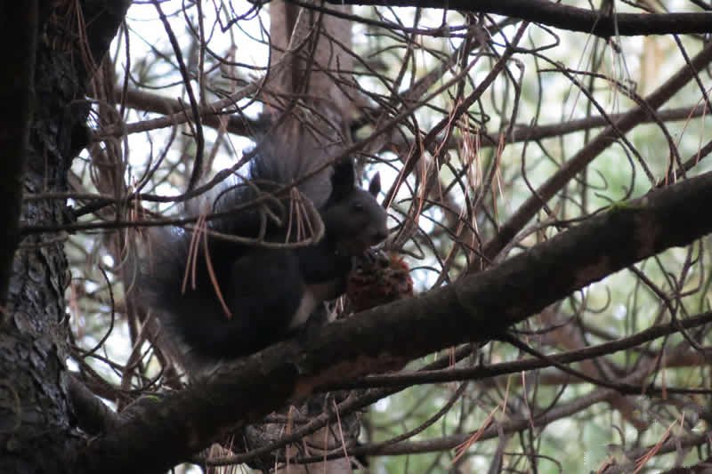
M 24 62 L 4 68 L 0 83 L 4 96 L 16 94 L 14 105 L 5 103 L 10 109 L 4 108 L 4 121 L 15 122 L 3 130 L 12 134 L 2 137 L 16 142 L 3 159 L 3 179 L 10 181 L 2 187 L 10 205 L 3 211 L 4 226 L 10 229 L 3 260 L 12 257 L 12 273 L 9 283 L 5 274 L 0 278 L 7 294 L 0 331 L 0 471 L 76 472 L 71 460 L 84 439 L 73 426 L 64 366 L 68 335 L 64 289 L 69 276 L 64 236 L 27 237 L 12 252 L 17 243 L 12 229 L 18 228 L 20 219 L 57 224 L 69 221 L 69 212 L 60 200 L 24 203 L 21 214 L 13 206 L 19 202 L 18 182 L 28 193 L 68 189 L 69 166 L 86 137 L 88 105 L 81 99 L 91 68 L 79 59 L 81 51 L 101 58 L 127 4 L 85 2 L 82 14 L 95 20 L 86 30 L 93 36 L 87 36 L 85 44 L 79 42 L 72 22 L 64 22 L 77 18 L 70 5 L 55 3 L 51 10 L 45 3 L 5 4 L 0 15 L 3 34 L 14 36 L 5 43 L 19 43 L 15 52 Z M 34 70 L 28 69 L 33 62 Z M 34 115 L 29 108 L 33 89 Z

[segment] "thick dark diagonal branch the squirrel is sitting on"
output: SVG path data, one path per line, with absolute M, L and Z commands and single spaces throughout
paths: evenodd
M 134 408 L 131 420 L 87 446 L 82 467 L 166 470 L 236 424 L 254 422 L 321 386 L 496 337 L 571 292 L 708 234 L 712 220 L 699 210 L 709 202 L 712 173 L 617 205 L 455 285 L 365 311 L 323 327 L 309 341 L 286 341 L 225 365 L 208 382 Z M 147 438 L 156 441 L 148 446 Z

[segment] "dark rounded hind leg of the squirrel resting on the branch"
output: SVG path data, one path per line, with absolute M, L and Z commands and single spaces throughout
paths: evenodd
M 303 299 L 291 251 L 254 248 L 234 261 L 223 257 L 227 271 L 218 275 L 218 284 L 230 314 L 207 277 L 196 290 L 175 294 L 167 312 L 166 325 L 190 349 L 185 350 L 189 362 L 246 357 L 285 339 Z

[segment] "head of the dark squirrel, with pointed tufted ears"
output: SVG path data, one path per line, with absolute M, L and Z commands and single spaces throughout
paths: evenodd
M 336 163 L 331 195 L 321 209 L 327 238 L 336 244 L 338 252 L 352 256 L 361 255 L 388 237 L 387 214 L 376 201 L 381 190 L 380 176 L 376 173 L 368 191 L 357 187 L 354 181 L 352 161 Z

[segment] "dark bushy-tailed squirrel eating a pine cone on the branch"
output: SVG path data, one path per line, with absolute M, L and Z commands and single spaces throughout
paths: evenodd
M 190 365 L 245 357 L 295 333 L 323 301 L 345 292 L 352 257 L 387 237 L 387 214 L 376 201 L 378 174 L 368 191 L 360 189 L 352 160 L 344 159 L 331 166 L 330 180 L 316 174 L 302 187 L 319 212 L 323 237 L 303 246 L 280 245 L 294 242 L 295 227 L 310 224 L 295 224 L 292 210 L 299 199 L 274 195 L 299 178 L 286 175 L 295 172 L 285 171 L 275 149 L 255 153 L 248 180 L 214 197 L 217 217 L 207 221 L 207 232 L 150 231 L 139 292 L 171 345 L 180 348 L 189 373 Z M 330 187 L 328 194 L 324 186 Z M 247 205 L 260 197 L 259 205 Z

